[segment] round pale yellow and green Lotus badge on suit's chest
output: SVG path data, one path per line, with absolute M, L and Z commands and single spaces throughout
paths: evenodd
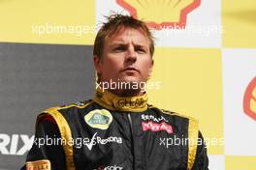
M 92 128 L 107 129 L 112 123 L 112 114 L 106 109 L 96 109 L 85 115 L 84 120 Z

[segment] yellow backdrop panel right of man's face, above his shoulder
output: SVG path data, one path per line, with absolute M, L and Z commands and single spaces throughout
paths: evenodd
M 158 47 L 150 82 L 161 82 L 159 90 L 148 90 L 150 102 L 200 121 L 208 153 L 222 155 L 223 109 L 221 52 L 219 49 Z M 216 141 L 218 140 L 218 141 Z

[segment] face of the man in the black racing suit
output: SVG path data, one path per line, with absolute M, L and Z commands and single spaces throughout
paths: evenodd
M 121 28 L 106 42 L 101 59 L 94 56 L 102 82 L 146 82 L 153 67 L 149 40 L 140 29 Z

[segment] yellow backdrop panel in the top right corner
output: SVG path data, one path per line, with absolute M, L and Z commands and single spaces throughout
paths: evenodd
M 222 0 L 224 47 L 256 48 L 256 1 Z

